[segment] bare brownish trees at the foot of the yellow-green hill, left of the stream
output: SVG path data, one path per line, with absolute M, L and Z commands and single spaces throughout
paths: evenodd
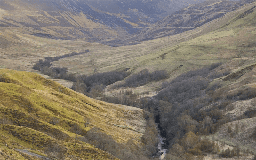
M 134 139 L 126 143 L 118 143 L 111 135 L 103 133 L 99 128 L 84 131 L 79 124 L 71 125 L 71 131 L 79 136 L 75 139 L 90 143 L 96 148 L 106 151 L 119 159 L 149 159 L 156 157 L 158 149 L 158 131 L 152 114 L 145 113 L 147 128 L 142 136 L 145 146 L 139 146 Z M 85 126 L 88 119 L 85 119 Z

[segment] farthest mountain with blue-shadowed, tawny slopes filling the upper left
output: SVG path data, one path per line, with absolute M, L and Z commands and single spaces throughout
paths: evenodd
M 1 0 L 1 27 L 53 39 L 129 35 L 204 0 Z

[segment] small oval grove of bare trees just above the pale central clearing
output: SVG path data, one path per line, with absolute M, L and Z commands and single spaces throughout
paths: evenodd
M 118 84 L 114 88 L 117 87 L 139 87 L 145 85 L 150 81 L 159 81 L 167 78 L 168 74 L 166 70 L 156 70 L 152 73 L 148 71 L 148 69 L 144 69 L 137 74 L 133 74 L 129 76 L 125 83 Z

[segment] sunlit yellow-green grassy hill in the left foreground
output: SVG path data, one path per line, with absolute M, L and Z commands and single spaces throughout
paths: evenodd
M 9 153 L 15 152 L 14 148 L 36 149 L 40 153 L 49 141 L 58 141 L 68 148 L 69 155 L 115 159 L 90 144 L 77 143 L 71 132 L 76 123 L 82 128 L 81 134 L 98 127 L 117 142 L 134 138 L 141 143 L 146 123 L 143 110 L 88 98 L 31 72 L 0 69 L 0 76 L 0 116 L 13 124 L 0 126 L 1 143 L 9 146 Z M 52 117 L 59 118 L 60 123 L 47 123 Z M 85 117 L 91 119 L 87 127 L 83 125 Z M 78 154 L 81 149 L 84 154 Z

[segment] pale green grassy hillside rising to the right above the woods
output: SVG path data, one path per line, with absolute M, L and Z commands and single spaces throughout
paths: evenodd
M 255 8 L 244 14 L 253 6 L 255 2 L 192 31 L 133 46 L 92 50 L 87 55 L 64 58 L 53 64 L 86 75 L 95 73 L 95 68 L 97 72 L 124 68 L 130 68 L 131 72 L 145 68 L 151 71 L 166 69 L 173 78 L 191 69 L 234 58 L 246 57 L 254 63 Z M 150 84 L 153 88 L 156 85 Z

